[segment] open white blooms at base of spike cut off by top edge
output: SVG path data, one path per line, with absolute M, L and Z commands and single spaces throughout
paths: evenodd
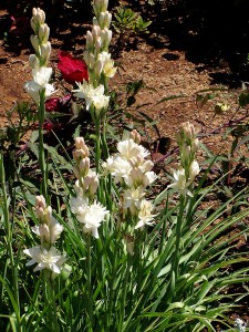
M 103 108 L 107 108 L 110 97 L 104 94 L 104 85 L 98 85 L 93 87 L 93 85 L 83 81 L 83 84 L 77 83 L 79 89 L 73 90 L 74 95 L 79 98 L 84 98 L 86 104 L 86 110 L 93 104 L 96 112 Z

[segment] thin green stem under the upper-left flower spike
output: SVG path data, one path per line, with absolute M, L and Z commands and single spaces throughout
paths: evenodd
M 41 176 L 42 176 L 41 194 L 44 196 L 48 203 L 48 169 L 46 169 L 45 152 L 43 145 L 43 124 L 45 118 L 45 91 L 44 90 L 42 90 L 40 93 L 38 115 L 39 115 L 39 167 L 41 169 Z

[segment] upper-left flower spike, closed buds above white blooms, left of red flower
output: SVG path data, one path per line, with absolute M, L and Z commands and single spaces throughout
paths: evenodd
M 30 55 L 29 63 L 33 80 L 25 83 L 24 89 L 35 104 L 39 105 L 41 94 L 46 100 L 54 92 L 53 85 L 49 83 L 52 68 L 46 68 L 51 53 L 50 28 L 45 23 L 45 13 L 40 8 L 33 9 L 31 27 L 34 31 L 34 34 L 31 35 L 31 43 L 35 54 Z

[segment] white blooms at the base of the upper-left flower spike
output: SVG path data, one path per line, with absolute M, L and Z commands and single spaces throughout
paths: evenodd
M 39 70 L 32 70 L 33 81 L 29 81 L 24 84 L 27 93 L 33 98 L 35 104 L 40 102 L 40 93 L 44 90 L 45 98 L 54 92 L 52 84 L 49 84 L 49 80 L 52 75 L 52 68 L 42 66 Z

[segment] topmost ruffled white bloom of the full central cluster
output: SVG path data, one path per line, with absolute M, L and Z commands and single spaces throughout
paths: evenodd
M 118 142 L 117 151 L 124 158 L 133 163 L 136 163 L 137 159 L 143 160 L 149 155 L 149 152 L 146 148 L 136 144 L 132 138 Z

